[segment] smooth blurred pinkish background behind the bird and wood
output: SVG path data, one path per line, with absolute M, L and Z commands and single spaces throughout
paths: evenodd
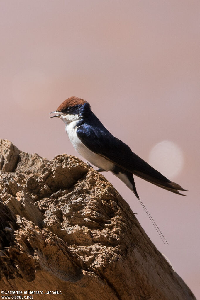
M 85 98 L 113 135 L 189 190 L 183 197 L 135 178 L 164 245 L 133 193 L 102 173 L 197 298 L 199 15 L 197 0 L 0 1 L 0 138 L 48 159 L 80 157 L 49 112 Z

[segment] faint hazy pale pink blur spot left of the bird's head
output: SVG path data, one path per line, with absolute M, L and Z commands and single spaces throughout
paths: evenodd
M 49 103 L 52 82 L 41 70 L 22 70 L 13 79 L 13 99 L 24 110 L 40 110 Z

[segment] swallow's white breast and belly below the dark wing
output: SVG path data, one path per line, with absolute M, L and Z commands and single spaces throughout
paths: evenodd
M 73 121 L 68 124 L 66 124 L 65 129 L 68 134 L 68 137 L 70 139 L 70 142 L 72 143 L 73 147 L 76 149 L 79 154 L 84 157 L 87 161 L 89 161 L 94 166 L 101 168 L 106 171 L 112 171 L 114 168 L 114 164 L 112 164 L 107 159 L 101 157 L 100 155 L 92 152 L 89 150 L 82 142 L 79 140 L 76 134 L 76 123 L 78 121 Z

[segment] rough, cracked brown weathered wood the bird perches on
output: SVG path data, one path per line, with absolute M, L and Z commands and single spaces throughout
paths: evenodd
M 194 295 L 103 175 L 0 140 L 1 290 L 33 299 L 189 300 Z

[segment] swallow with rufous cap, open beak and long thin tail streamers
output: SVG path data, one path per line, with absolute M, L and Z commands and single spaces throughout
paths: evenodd
M 76 151 L 96 166 L 98 172 L 111 171 L 121 179 L 135 194 L 154 227 L 160 232 L 139 198 L 133 175 L 179 195 L 186 196 L 179 191 L 187 190 L 167 179 L 133 153 L 127 144 L 114 137 L 95 116 L 90 104 L 84 99 L 75 96 L 67 98 L 58 106 L 56 111 L 50 114 L 52 113 L 56 113 L 56 115 L 50 118 L 56 117 L 64 122 L 66 133 Z M 163 236 L 162 232 L 160 233 Z

